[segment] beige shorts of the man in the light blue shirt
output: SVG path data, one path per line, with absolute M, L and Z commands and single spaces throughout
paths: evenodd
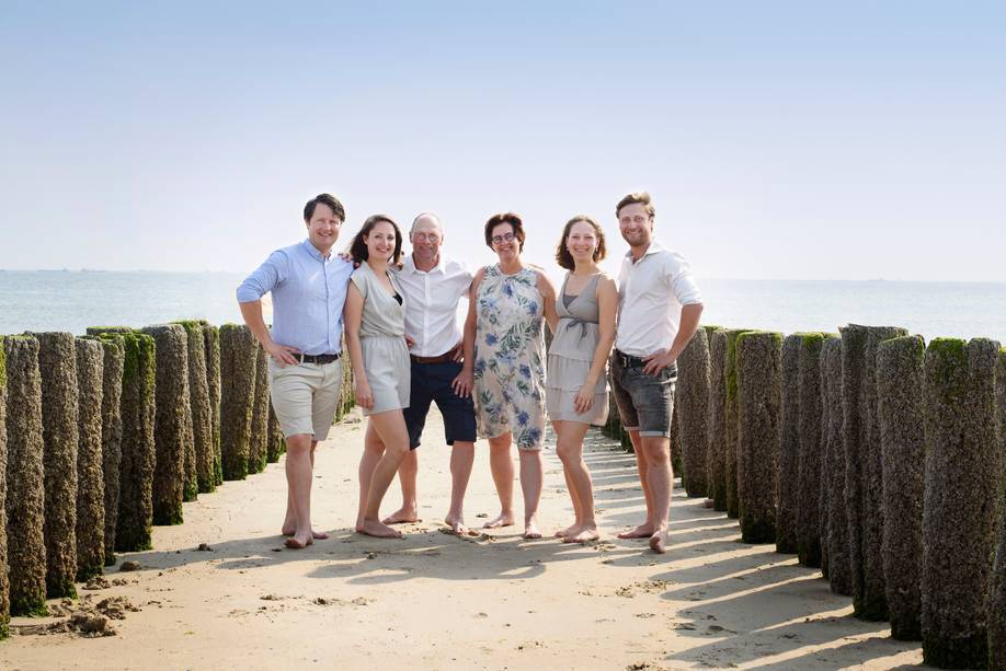
M 310 433 L 324 440 L 342 396 L 342 359 L 285 367 L 270 359 L 268 393 L 285 437 Z

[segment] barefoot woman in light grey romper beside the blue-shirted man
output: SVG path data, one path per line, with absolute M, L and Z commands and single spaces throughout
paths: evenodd
M 390 264 L 398 264 L 402 235 L 386 215 L 374 215 L 353 239 L 353 271 L 345 305 L 346 348 L 353 363 L 356 403 L 367 423 L 359 460 L 356 531 L 400 537 L 380 521 L 380 502 L 409 451 L 402 408 L 409 406 L 409 348 L 404 294 Z

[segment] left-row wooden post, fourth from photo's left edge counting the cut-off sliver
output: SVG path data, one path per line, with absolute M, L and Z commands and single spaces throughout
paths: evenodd
M 102 574 L 105 565 L 105 476 L 102 467 L 101 343 L 77 338 L 77 580 Z

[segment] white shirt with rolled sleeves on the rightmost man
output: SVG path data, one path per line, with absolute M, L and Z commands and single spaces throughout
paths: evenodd
M 691 266 L 659 241 L 639 261 L 626 254 L 618 276 L 615 348 L 632 357 L 670 349 L 681 327 L 682 306 L 701 303 Z

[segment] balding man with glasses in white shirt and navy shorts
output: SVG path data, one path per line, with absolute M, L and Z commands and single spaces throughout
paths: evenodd
M 464 501 L 475 462 L 476 420 L 471 389 L 460 379 L 461 328 L 458 302 L 468 296 L 471 273 L 464 264 L 442 252 L 444 228 L 436 215 L 423 212 L 409 231 L 412 254 L 398 274 L 405 293 L 405 337 L 410 340 L 412 381 L 410 405 L 403 410 L 409 429 L 410 452 L 398 468 L 402 507 L 386 524 L 419 519 L 416 475 L 420 444 L 430 404 L 444 416 L 444 433 L 450 453 L 450 509 L 445 522 L 456 534 L 466 534 Z

